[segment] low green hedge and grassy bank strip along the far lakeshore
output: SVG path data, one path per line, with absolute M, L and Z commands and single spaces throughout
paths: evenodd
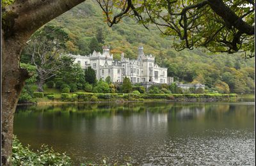
M 36 103 L 68 102 L 213 102 L 236 100 L 237 94 L 34 93 Z

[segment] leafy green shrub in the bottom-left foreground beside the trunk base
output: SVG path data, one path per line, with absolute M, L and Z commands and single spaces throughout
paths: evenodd
M 33 152 L 29 146 L 22 146 L 17 137 L 13 136 L 12 165 L 71 165 L 71 160 L 65 153 L 56 153 L 45 145 Z

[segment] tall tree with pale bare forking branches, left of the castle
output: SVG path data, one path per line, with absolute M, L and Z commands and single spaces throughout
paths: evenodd
M 44 82 L 60 70 L 60 54 L 67 40 L 68 34 L 57 26 L 44 26 L 29 39 L 22 57 L 31 57 L 31 63 L 36 66 L 38 91 L 43 91 Z

